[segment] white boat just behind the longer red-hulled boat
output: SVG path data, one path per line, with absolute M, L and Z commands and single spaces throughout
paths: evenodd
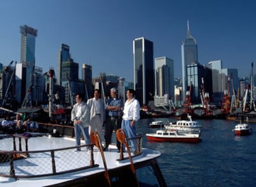
M 168 125 L 164 125 L 165 129 L 174 130 L 195 130 L 198 131 L 202 128 L 202 125 L 198 124 L 197 121 L 192 121 L 191 116 L 187 116 L 189 120 L 179 120 L 176 122 L 169 122 Z

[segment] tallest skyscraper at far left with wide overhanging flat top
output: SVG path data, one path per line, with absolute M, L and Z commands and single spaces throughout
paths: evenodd
M 25 93 L 31 86 L 30 75 L 34 73 L 35 69 L 35 40 L 37 36 L 37 30 L 34 28 L 23 25 L 20 26 L 21 44 L 20 44 L 20 63 L 22 63 L 22 82 L 25 81 L 25 88 L 18 85 L 21 90 L 18 94 L 21 94 L 21 100 L 24 98 Z M 25 79 L 24 79 L 25 78 Z M 18 96 L 19 98 L 19 96 Z M 19 100 L 18 100 L 19 101 Z

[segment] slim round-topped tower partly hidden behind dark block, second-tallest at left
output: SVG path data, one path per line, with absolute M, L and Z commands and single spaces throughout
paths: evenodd
M 58 54 L 58 62 L 57 62 L 57 80 L 59 83 L 59 86 L 62 85 L 62 62 L 67 62 L 70 59 L 70 53 L 69 53 L 69 46 L 66 44 L 61 44 L 61 49 L 59 50 Z M 65 76 L 65 75 L 64 75 Z

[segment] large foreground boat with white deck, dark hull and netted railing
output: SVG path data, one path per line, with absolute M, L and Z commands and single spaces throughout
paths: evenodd
M 129 147 L 118 153 L 116 145 L 109 145 L 103 152 L 95 142 L 85 145 L 81 141 L 82 151 L 74 152 L 74 138 L 24 135 L 0 136 L 0 186 L 167 186 L 156 162 L 159 151 L 138 145 L 131 155 Z M 142 136 L 138 138 L 142 142 Z M 85 151 L 88 147 L 90 153 Z M 152 175 L 136 177 L 150 167 Z

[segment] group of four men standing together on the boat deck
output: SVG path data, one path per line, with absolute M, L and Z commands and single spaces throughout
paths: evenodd
M 105 147 L 104 151 L 108 151 L 111 143 L 113 130 L 122 128 L 127 138 L 136 137 L 135 122 L 140 119 L 140 104 L 135 99 L 135 90 L 128 89 L 126 92 L 126 103 L 117 97 L 116 88 L 110 90 L 111 98 L 106 104 L 100 98 L 100 90 L 94 90 L 94 97 L 84 101 L 83 94 L 77 94 L 75 97 L 75 105 L 71 111 L 71 120 L 74 121 L 75 129 L 75 146 L 80 146 L 81 133 L 84 137 L 85 144 L 90 143 L 90 133 L 97 131 L 101 133 L 103 125 L 105 125 Z M 117 149 L 121 146 L 117 142 Z M 136 145 L 132 143 L 132 151 L 135 151 Z M 90 151 L 89 149 L 87 149 Z M 77 148 L 75 151 L 80 151 Z

